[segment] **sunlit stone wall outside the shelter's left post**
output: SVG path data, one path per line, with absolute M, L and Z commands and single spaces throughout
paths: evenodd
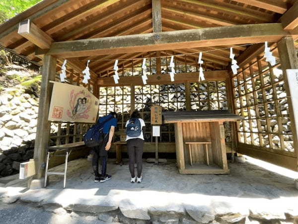
M 0 96 L 0 177 L 18 173 L 19 164 L 33 158 L 38 101 L 14 89 Z

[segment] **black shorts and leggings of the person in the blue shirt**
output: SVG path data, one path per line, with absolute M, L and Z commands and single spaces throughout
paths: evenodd
M 98 173 L 98 160 L 100 157 L 100 163 L 101 163 L 101 175 L 105 176 L 107 172 L 107 151 L 105 150 L 105 146 L 109 140 L 108 134 L 104 137 L 103 143 L 97 147 L 93 148 L 93 158 L 92 158 L 92 167 L 93 172 L 96 177 L 99 177 Z

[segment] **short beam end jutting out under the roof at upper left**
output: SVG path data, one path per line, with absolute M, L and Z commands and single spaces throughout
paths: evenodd
M 33 22 L 30 21 L 30 19 L 21 21 L 19 23 L 17 33 L 41 49 L 49 49 L 51 47 L 51 43 L 54 41 L 52 37 L 38 28 Z

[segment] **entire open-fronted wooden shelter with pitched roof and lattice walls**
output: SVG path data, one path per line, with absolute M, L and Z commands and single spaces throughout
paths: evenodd
M 148 126 L 145 151 L 154 151 L 153 104 L 164 112 L 229 110 L 244 119 L 224 122 L 227 148 L 298 171 L 298 126 L 286 74 L 298 69 L 297 38 L 298 0 L 42 0 L 0 25 L 2 48 L 42 66 L 37 179 L 44 175 L 49 140 L 57 145 L 81 141 L 89 125 L 59 122 L 58 133 L 49 134 L 50 81 L 60 82 L 65 59 L 66 82 L 84 86 L 99 99 L 99 116 L 121 113 L 121 129 L 130 112 L 142 113 Z M 264 57 L 265 41 L 275 65 Z M 199 52 L 206 79 L 200 82 Z M 88 60 L 91 79 L 85 85 Z M 115 60 L 118 84 L 112 78 Z M 160 152 L 175 152 L 177 137 L 175 125 L 163 123 Z

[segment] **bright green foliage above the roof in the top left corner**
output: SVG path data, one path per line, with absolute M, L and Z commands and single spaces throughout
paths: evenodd
M 26 10 L 41 0 L 0 0 L 0 23 Z

